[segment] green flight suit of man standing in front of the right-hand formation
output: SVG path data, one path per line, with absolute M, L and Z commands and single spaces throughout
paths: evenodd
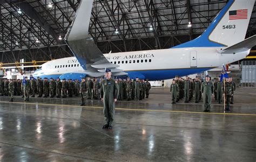
M 211 81 L 204 81 L 201 85 L 201 92 L 204 98 L 204 112 L 210 112 L 212 103 L 212 94 L 214 93 L 214 86 Z

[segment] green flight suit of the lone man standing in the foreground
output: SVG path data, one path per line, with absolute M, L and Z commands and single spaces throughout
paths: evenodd
M 104 105 L 104 117 L 106 124 L 112 126 L 114 120 L 114 99 L 118 95 L 118 85 L 116 81 L 112 78 L 104 79 L 101 83 L 101 94 L 100 97 L 103 98 Z

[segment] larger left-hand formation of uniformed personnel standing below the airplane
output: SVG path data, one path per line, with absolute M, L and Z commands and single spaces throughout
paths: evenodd
M 2 96 L 10 96 L 11 100 L 14 100 L 14 95 L 23 95 L 24 101 L 29 101 L 29 96 L 35 97 L 35 94 L 38 94 L 38 97 L 57 97 L 59 98 L 61 94 L 63 98 L 67 96 L 72 97 L 73 95 L 78 96 L 81 94 L 81 83 L 79 80 L 69 80 L 63 79 L 60 81 L 44 78 L 37 78 L 37 80 L 31 78 L 25 78 L 26 83 L 23 80 L 0 80 L 0 93 Z M 87 78 L 86 82 L 86 99 L 100 99 L 100 82 L 103 78 L 98 79 Z M 126 79 L 116 79 L 118 83 L 118 100 L 142 100 L 143 98 L 149 97 L 149 90 L 151 89 L 151 84 L 148 81 L 139 80 L 133 81 L 133 78 Z M 43 96 L 44 95 L 44 96 Z M 85 102 L 84 102 L 85 103 Z M 84 105 L 84 104 L 83 104 Z

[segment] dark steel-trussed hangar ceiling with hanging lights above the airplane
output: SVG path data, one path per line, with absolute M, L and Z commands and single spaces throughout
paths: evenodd
M 169 48 L 198 37 L 226 3 L 97 0 L 93 2 L 89 32 L 103 53 Z M 79 4 L 80 0 L 0 1 L 0 62 L 72 56 L 64 36 Z M 254 34 L 256 5 L 246 37 Z

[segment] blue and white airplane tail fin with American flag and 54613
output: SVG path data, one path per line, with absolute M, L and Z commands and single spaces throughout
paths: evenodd
M 255 0 L 230 0 L 201 36 L 182 47 L 228 47 L 245 39 Z

